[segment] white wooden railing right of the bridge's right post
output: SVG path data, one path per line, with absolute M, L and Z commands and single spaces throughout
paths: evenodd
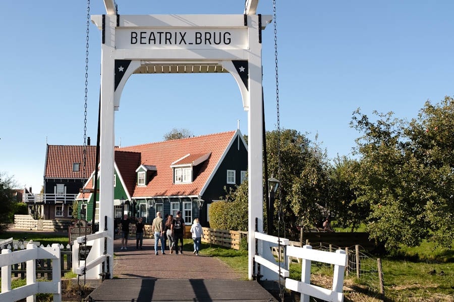
M 289 278 L 290 261 L 288 261 L 287 269 L 283 269 L 261 256 L 255 256 L 255 262 L 267 267 L 268 269 L 280 273 L 282 277 L 286 278 L 286 288 L 301 293 L 301 301 L 309 302 L 309 297 L 323 299 L 325 301 L 344 301 L 344 272 L 348 264 L 348 255 L 345 251 L 337 250 L 335 253 L 312 250 L 312 247 L 306 245 L 302 248 L 289 246 L 288 239 L 282 239 L 263 233 L 255 232 L 257 240 L 266 241 L 272 244 L 279 244 L 283 247 L 284 258 L 296 257 L 302 259 L 301 281 Z M 278 254 L 280 257 L 280 253 Z M 332 279 L 332 288 L 323 288 L 310 284 L 311 281 L 311 262 L 317 261 L 322 263 L 333 264 L 334 274 Z

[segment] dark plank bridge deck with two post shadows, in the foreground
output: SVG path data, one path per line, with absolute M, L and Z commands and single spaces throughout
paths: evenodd
M 206 279 L 109 279 L 93 301 L 276 301 L 255 281 Z

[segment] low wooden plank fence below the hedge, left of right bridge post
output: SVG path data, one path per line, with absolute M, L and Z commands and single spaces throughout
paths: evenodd
M 234 250 L 240 249 L 241 240 L 247 240 L 247 232 L 217 230 L 210 228 L 202 228 L 202 230 L 202 242 L 231 248 Z

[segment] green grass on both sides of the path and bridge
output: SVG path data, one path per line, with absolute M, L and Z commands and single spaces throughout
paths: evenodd
M 66 236 L 27 232 L 4 232 L 0 238 L 13 237 L 40 243 L 61 243 L 66 246 Z M 185 239 L 185 250 L 192 251 L 192 240 Z M 248 253 L 202 243 L 202 255 L 218 257 L 247 279 Z M 365 260 L 376 266 L 376 258 Z M 393 257 L 382 258 L 385 300 L 387 301 L 454 301 L 454 251 L 435 248 L 423 242 L 418 248 L 402 248 Z M 329 288 L 332 284 L 332 269 L 313 265 L 311 283 Z M 301 265 L 291 265 L 290 277 L 301 279 Z M 372 284 L 373 283 L 373 284 Z M 344 282 L 345 301 L 378 301 L 376 278 L 357 279 L 355 274 Z

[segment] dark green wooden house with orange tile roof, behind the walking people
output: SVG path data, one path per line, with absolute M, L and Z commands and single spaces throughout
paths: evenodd
M 127 213 L 151 223 L 158 211 L 163 217 L 181 211 L 187 224 L 198 217 L 208 226 L 211 203 L 246 179 L 247 165 L 239 130 L 116 148 L 114 216 Z M 92 178 L 85 188 L 93 188 Z M 88 216 L 94 208 L 99 221 L 93 195 L 80 193 L 77 200 Z

